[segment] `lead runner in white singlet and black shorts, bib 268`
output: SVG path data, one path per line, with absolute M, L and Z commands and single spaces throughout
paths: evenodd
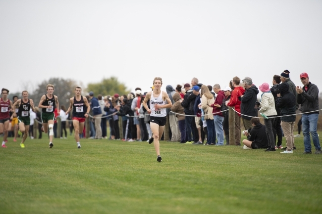
M 154 90 L 149 91 L 144 100 L 143 106 L 150 114 L 150 126 L 153 133 L 153 144 L 157 152 L 157 161 L 161 162 L 162 158 L 160 156 L 160 139 L 164 131 L 164 126 L 166 123 L 166 108 L 172 107 L 172 102 L 165 91 L 161 91 L 162 78 L 156 77 L 153 80 Z M 150 109 L 147 105 L 148 100 L 150 100 Z M 152 141 L 151 141 L 152 143 Z

